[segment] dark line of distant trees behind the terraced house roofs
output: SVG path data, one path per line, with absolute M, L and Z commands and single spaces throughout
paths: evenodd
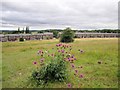
M 62 29 L 47 29 L 47 30 L 30 30 L 29 26 L 25 27 L 22 30 L 20 30 L 20 27 L 18 27 L 18 30 L 3 30 L 1 32 L 1 34 L 31 34 L 32 32 L 36 32 L 36 33 L 45 33 L 45 32 L 51 32 L 53 33 L 53 35 L 55 37 L 57 37 L 57 34 L 59 32 L 63 32 L 64 30 Z M 72 30 L 74 33 L 75 32 L 81 32 L 81 33 L 85 33 L 85 32 L 91 32 L 91 33 L 120 33 L 119 29 L 102 29 L 102 30 Z

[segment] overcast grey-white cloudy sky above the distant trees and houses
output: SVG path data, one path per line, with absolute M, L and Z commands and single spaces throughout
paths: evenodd
M 2 0 L 0 30 L 117 29 L 119 0 Z

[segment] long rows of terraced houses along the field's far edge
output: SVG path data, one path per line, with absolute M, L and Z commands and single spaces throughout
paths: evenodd
M 61 35 L 62 33 L 59 33 Z M 75 33 L 76 38 L 118 38 L 118 33 Z M 53 39 L 53 33 L 45 32 L 40 34 L 0 34 L 0 41 L 17 41 L 19 38 L 25 40 L 42 40 L 42 39 Z

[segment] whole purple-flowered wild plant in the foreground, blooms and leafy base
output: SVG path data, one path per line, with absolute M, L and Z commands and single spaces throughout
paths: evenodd
M 82 66 L 75 66 L 74 62 L 77 60 L 75 55 L 72 54 L 72 47 L 68 44 L 56 44 L 52 50 L 39 50 L 39 61 L 34 61 L 33 64 L 37 66 L 37 70 L 32 73 L 32 78 L 37 85 L 45 84 L 51 81 L 65 81 L 68 77 L 68 65 L 70 70 L 74 71 L 75 77 L 83 78 L 84 75 L 79 73 L 79 68 Z M 54 52 L 54 53 L 53 53 Z M 78 50 L 83 53 L 83 50 Z M 72 87 L 71 83 L 67 84 Z

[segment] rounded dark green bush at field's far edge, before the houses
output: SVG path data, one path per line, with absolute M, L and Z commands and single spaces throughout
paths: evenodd
M 60 38 L 60 42 L 69 43 L 74 41 L 74 33 L 70 28 L 66 28 Z

